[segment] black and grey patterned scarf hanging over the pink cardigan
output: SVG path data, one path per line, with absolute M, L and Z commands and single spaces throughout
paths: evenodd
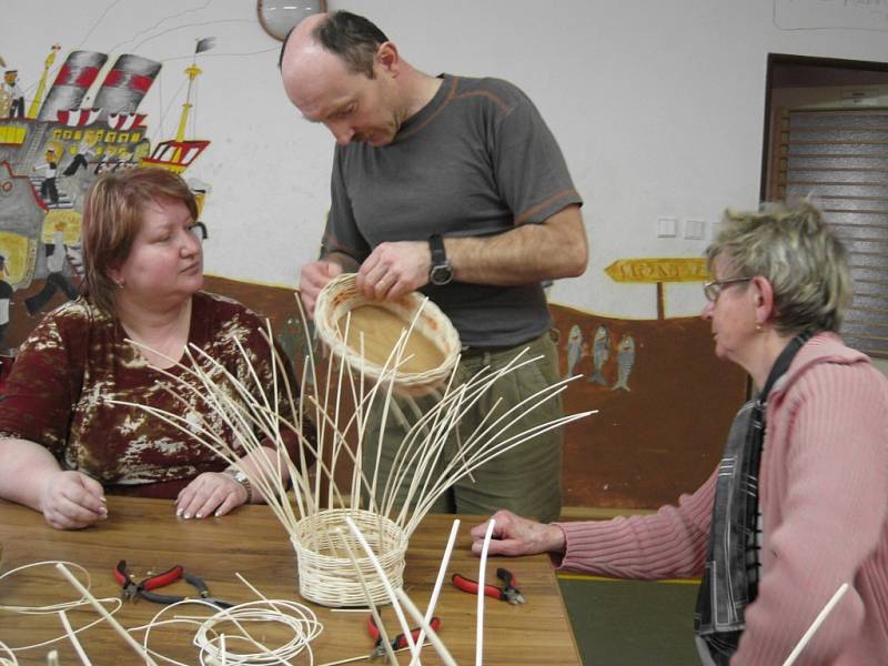
M 758 594 L 758 471 L 765 442 L 767 398 L 796 353 L 810 339 L 801 333 L 786 345 L 756 400 L 737 415 L 718 467 L 706 566 L 697 595 L 694 633 L 712 664 L 728 664 L 746 627 L 745 610 Z

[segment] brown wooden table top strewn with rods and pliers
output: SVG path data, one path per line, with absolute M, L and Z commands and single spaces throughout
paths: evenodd
M 119 559 L 127 559 L 137 577 L 181 564 L 185 571 L 203 577 L 214 596 L 234 603 L 254 601 L 255 596 L 236 579 L 234 574 L 238 572 L 269 598 L 304 603 L 316 613 L 324 627 L 321 636 L 312 643 L 316 666 L 370 653 L 372 642 L 366 630 L 367 613 L 333 612 L 300 597 L 293 549 L 283 527 L 268 507 L 245 506 L 222 518 L 185 521 L 174 516 L 169 501 L 109 497 L 108 505 L 108 521 L 89 529 L 62 532 L 47 525 L 40 514 L 0 501 L 0 545 L 3 547 L 0 573 L 39 561 L 69 561 L 89 571 L 92 594 L 110 597 L 120 595 L 111 575 Z M 411 539 L 405 589 L 421 609 L 427 605 L 453 517 L 427 516 Z M 478 558 L 470 551 L 468 537 L 468 528 L 475 523 L 477 516 L 463 519 L 447 583 L 435 612 L 443 623 L 441 638 L 460 664 L 475 662 L 476 598 L 454 588 L 450 575 L 458 572 L 471 578 L 477 577 Z M 515 574 L 527 603 L 513 606 L 490 597 L 485 599 L 484 663 L 504 666 L 581 664 L 548 557 L 488 562 L 488 581 L 495 581 L 496 566 L 502 565 Z M 31 571 L 30 575 L 17 574 L 0 582 L 0 605 L 38 606 L 79 598 L 54 568 L 46 566 Z M 193 591 L 184 583 L 176 583 L 164 592 L 190 594 Z M 160 608 L 142 599 L 124 605 L 114 617 L 125 627 L 135 627 L 148 623 Z M 194 608 L 196 615 L 211 614 L 198 606 Z M 98 617 L 91 607 L 72 610 L 69 616 L 75 627 Z M 386 628 L 396 633 L 391 608 L 384 612 L 383 619 Z M 0 610 L 0 642 L 10 647 L 61 635 L 63 629 L 58 615 L 36 617 Z M 152 632 L 150 647 L 179 662 L 198 664 L 196 649 L 191 645 L 193 635 L 194 629 L 184 625 L 157 629 Z M 131 648 L 107 623 L 87 629 L 79 637 L 97 666 L 139 663 Z M 135 638 L 141 643 L 142 634 L 137 633 Z M 17 656 L 20 664 L 43 665 L 52 648 L 59 650 L 62 666 L 80 664 L 67 638 Z M 410 662 L 406 655 L 400 655 L 402 664 Z M 442 662 L 427 646 L 423 649 L 423 663 Z M 309 664 L 306 655 L 300 655 L 294 664 Z

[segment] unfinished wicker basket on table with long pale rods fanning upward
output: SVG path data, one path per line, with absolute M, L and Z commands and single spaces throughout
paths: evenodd
M 299 299 L 296 302 L 299 303 Z M 302 321 L 304 325 L 304 313 Z M 496 418 L 483 421 L 468 437 L 458 441 L 456 455 L 444 463 L 443 472 L 440 472 L 444 444 L 457 438 L 456 430 L 463 415 L 497 381 L 527 364 L 538 362 L 541 357 L 528 357 L 527 350 L 524 350 L 504 367 L 495 371 L 485 369 L 458 385 L 454 380 L 454 370 L 438 402 L 410 428 L 396 452 L 389 476 L 381 478 L 379 473 L 382 446 L 377 446 L 373 473 L 367 478 L 361 464 L 364 442 L 367 437 L 382 436 L 381 432 L 367 432 L 367 414 L 371 408 L 381 406 L 381 431 L 384 431 L 390 412 L 394 412 L 395 377 L 397 369 L 406 361 L 406 341 L 415 322 L 416 317 L 410 327 L 402 331 L 383 371 L 373 381 L 367 381 L 363 372 L 355 373 L 353 363 L 331 362 L 327 364 L 323 387 L 319 389 L 321 383 L 315 370 L 315 359 L 310 351 L 302 372 L 299 398 L 294 397 L 287 373 L 284 372 L 286 365 L 272 342 L 270 323 L 263 332 L 274 359 L 270 386 L 262 385 L 250 355 L 238 340 L 234 342 L 251 377 L 246 383 L 239 381 L 203 350 L 188 347 L 185 355 L 190 363 L 178 363 L 182 374 L 163 373 L 170 380 L 167 391 L 185 404 L 183 394 L 195 395 L 204 401 L 210 411 L 234 433 L 233 442 L 224 441 L 200 414 L 173 414 L 143 404 L 111 402 L 143 410 L 174 425 L 216 452 L 231 465 L 240 467 L 241 458 L 249 457 L 256 465 L 256 471 L 241 468 L 283 525 L 301 554 L 301 563 L 309 559 L 309 552 L 316 555 L 315 564 L 312 565 L 316 567 L 316 572 L 303 571 L 301 564 L 302 595 L 325 605 L 351 605 L 355 603 L 352 599 L 363 598 L 363 592 L 355 581 L 342 575 L 342 572 L 351 569 L 351 561 L 332 545 L 335 539 L 331 537 L 331 531 L 341 527 L 342 518 L 331 515 L 330 512 L 340 512 L 353 519 L 360 519 L 362 531 L 373 535 L 380 558 L 385 558 L 389 553 L 395 554 L 395 562 L 386 575 L 400 585 L 407 541 L 444 492 L 502 453 L 593 413 L 572 414 L 517 434 L 505 434 L 512 423 L 554 400 L 566 389 L 567 382 L 572 381 L 563 380 L 503 410 Z M 141 346 L 134 342 L 133 344 Z M 170 361 L 175 362 L 174 359 Z M 192 383 L 185 381 L 185 376 L 191 377 Z M 306 386 L 311 387 L 310 392 L 306 392 Z M 354 405 L 347 418 L 341 414 L 343 393 L 346 391 Z M 282 396 L 286 405 L 283 410 L 285 413 L 278 407 Z M 492 410 L 491 414 L 494 412 L 496 410 Z M 395 416 L 403 418 L 401 414 L 395 413 Z M 315 425 L 316 445 L 303 434 L 306 417 Z M 297 460 L 292 460 L 287 453 L 287 438 L 299 442 Z M 309 473 L 306 452 L 316 461 L 313 478 Z M 353 465 L 351 483 L 345 492 L 337 486 L 335 480 L 336 466 L 342 461 Z M 327 486 L 326 493 L 322 482 Z M 286 490 L 287 483 L 292 488 L 290 492 Z M 398 507 L 396 502 L 402 486 L 406 496 Z M 379 501 L 377 487 L 383 488 Z M 369 498 L 367 506 L 361 506 L 362 494 Z M 366 513 L 371 514 L 370 519 Z M 375 576 L 371 563 L 367 561 L 364 565 L 367 577 Z M 312 581 L 323 584 L 314 585 Z M 382 588 L 377 585 L 374 589 L 379 591 L 374 601 L 385 603 L 386 596 Z

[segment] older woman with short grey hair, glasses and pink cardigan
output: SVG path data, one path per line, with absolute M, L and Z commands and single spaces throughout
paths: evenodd
M 888 381 L 836 334 L 845 249 L 809 203 L 728 212 L 707 251 L 715 353 L 760 389 L 718 468 L 678 506 L 541 524 L 498 512 L 490 552 L 549 552 L 561 571 L 703 576 L 705 664 L 783 664 L 837 589 L 797 664 L 888 664 Z M 480 551 L 484 526 L 473 529 Z

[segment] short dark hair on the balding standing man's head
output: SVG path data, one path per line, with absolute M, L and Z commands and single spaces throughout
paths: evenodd
M 286 33 L 278 58 L 278 68 L 284 60 L 284 51 L 293 30 Z M 321 21 L 312 37 L 324 49 L 339 56 L 349 71 L 373 79 L 373 59 L 381 44 L 389 41 L 385 33 L 373 21 L 350 11 L 334 11 Z

